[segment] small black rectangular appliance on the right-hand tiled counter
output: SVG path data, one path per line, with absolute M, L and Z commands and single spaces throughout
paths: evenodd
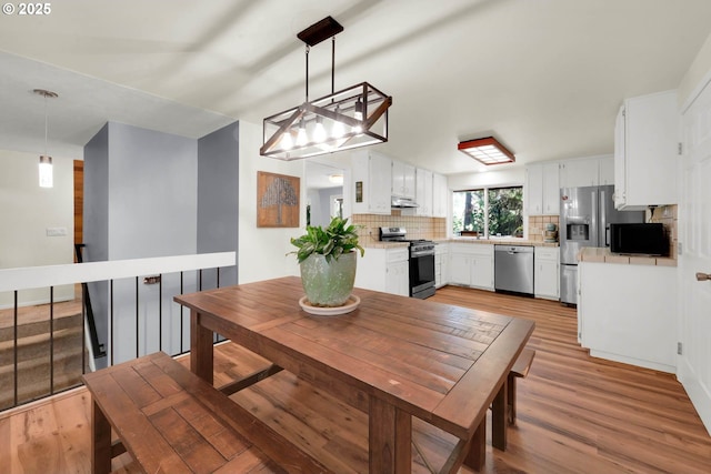
M 610 224 L 610 252 L 669 255 L 669 239 L 660 223 Z

